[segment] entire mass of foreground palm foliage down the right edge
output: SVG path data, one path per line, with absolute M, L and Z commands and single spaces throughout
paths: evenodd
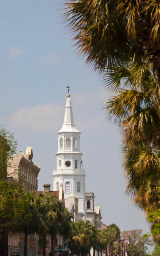
M 77 49 L 100 72 L 120 127 L 126 192 L 160 244 L 160 4 L 155 0 L 68 0 Z

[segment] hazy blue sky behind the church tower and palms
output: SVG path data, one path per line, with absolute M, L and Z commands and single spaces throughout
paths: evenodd
M 14 132 L 20 148 L 33 148 L 40 162 L 38 189 L 52 187 L 57 134 L 63 123 L 66 85 L 73 115 L 82 132 L 80 150 L 86 191 L 95 193 L 106 225 L 149 231 L 143 212 L 125 195 L 120 134 L 108 121 L 103 103 L 110 96 L 100 77 L 78 57 L 62 24 L 62 0 L 0 3 L 0 123 Z

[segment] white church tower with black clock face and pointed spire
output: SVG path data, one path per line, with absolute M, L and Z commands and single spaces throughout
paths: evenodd
M 77 197 L 79 219 L 86 220 L 85 171 L 80 152 L 80 131 L 75 128 L 68 92 L 62 128 L 57 132 L 57 169 L 53 170 L 53 190 L 63 184 L 65 198 Z

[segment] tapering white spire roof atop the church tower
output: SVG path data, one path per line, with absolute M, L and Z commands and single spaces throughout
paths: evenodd
M 62 133 L 62 132 L 80 133 L 80 131 L 78 131 L 75 128 L 73 113 L 72 113 L 72 105 L 71 105 L 71 100 L 69 97 L 67 98 L 67 101 L 66 101 L 63 126 L 60 129 L 60 131 L 58 131 L 57 133 Z

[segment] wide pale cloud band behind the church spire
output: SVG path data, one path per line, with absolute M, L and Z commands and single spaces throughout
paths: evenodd
M 73 116 L 78 130 L 97 128 L 105 121 L 102 109 L 105 95 L 72 95 Z M 98 103 L 98 104 L 97 104 Z M 65 108 L 60 104 L 40 104 L 31 108 L 20 108 L 6 118 L 8 125 L 16 129 L 57 132 L 62 127 Z

